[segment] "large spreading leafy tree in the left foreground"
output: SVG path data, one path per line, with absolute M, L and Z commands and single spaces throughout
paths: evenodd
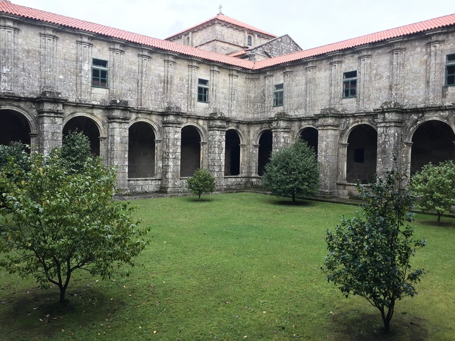
M 68 173 L 56 150 L 28 155 L 28 171 L 12 160 L 0 170 L 0 268 L 34 276 L 41 288 L 55 284 L 61 302 L 73 271 L 110 278 L 147 245 L 135 207 L 113 200 L 116 168 L 91 161 Z

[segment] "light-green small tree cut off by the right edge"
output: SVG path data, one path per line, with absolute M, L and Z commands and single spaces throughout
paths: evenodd
M 420 198 L 417 208 L 425 212 L 435 210 L 438 224 L 441 215 L 455 205 L 455 165 L 452 161 L 425 165 L 412 177 L 411 185 L 414 195 Z

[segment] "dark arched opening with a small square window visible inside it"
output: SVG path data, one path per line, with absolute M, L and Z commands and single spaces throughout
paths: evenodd
M 368 184 L 376 174 L 378 133 L 367 124 L 357 125 L 348 137 L 346 181 Z

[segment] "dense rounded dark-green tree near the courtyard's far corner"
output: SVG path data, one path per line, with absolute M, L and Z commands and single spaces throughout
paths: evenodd
M 272 154 L 265 166 L 263 186 L 274 196 L 313 196 L 319 189 L 318 159 L 313 148 L 298 139 Z

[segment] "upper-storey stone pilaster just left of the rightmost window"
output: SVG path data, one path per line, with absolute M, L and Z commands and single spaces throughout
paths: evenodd
M 430 103 L 440 103 L 442 79 L 443 79 L 443 39 L 431 40 L 427 44 L 427 89 L 426 101 Z

